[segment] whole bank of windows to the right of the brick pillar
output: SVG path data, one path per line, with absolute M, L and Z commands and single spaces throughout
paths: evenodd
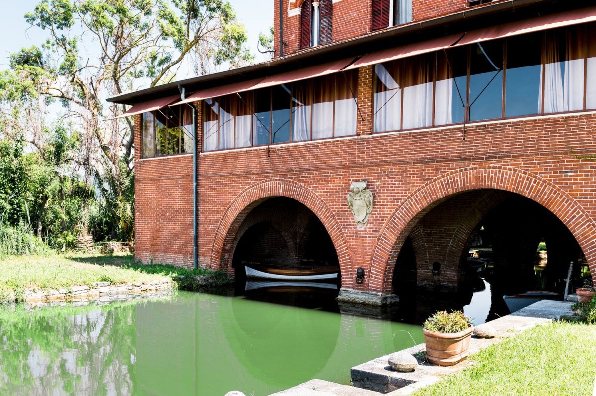
M 377 64 L 374 132 L 595 109 L 595 42 L 579 24 Z

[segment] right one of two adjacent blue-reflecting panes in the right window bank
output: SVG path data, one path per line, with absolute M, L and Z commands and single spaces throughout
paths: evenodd
M 507 40 L 505 117 L 540 113 L 542 33 Z

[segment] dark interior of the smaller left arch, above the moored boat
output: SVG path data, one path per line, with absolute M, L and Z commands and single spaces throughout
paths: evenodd
M 337 252 L 325 226 L 300 202 L 267 199 L 244 219 L 235 238 L 237 276 L 247 263 L 299 267 L 336 266 Z

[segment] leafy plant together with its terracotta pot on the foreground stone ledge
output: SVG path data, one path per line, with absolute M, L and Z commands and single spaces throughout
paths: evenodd
M 462 311 L 437 311 L 424 322 L 426 357 L 439 366 L 453 366 L 468 356 L 472 326 Z

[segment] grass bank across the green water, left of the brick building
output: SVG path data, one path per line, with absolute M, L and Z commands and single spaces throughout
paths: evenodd
M 26 288 L 60 289 L 76 285 L 92 286 L 95 282 L 150 283 L 176 276 L 188 278 L 211 273 L 187 270 L 163 264 L 144 266 L 132 254 L 54 254 L 21 255 L 0 260 L 0 302 L 14 295 L 23 300 Z M 178 282 L 181 288 L 188 288 Z M 10 299 L 12 300 L 12 299 Z

